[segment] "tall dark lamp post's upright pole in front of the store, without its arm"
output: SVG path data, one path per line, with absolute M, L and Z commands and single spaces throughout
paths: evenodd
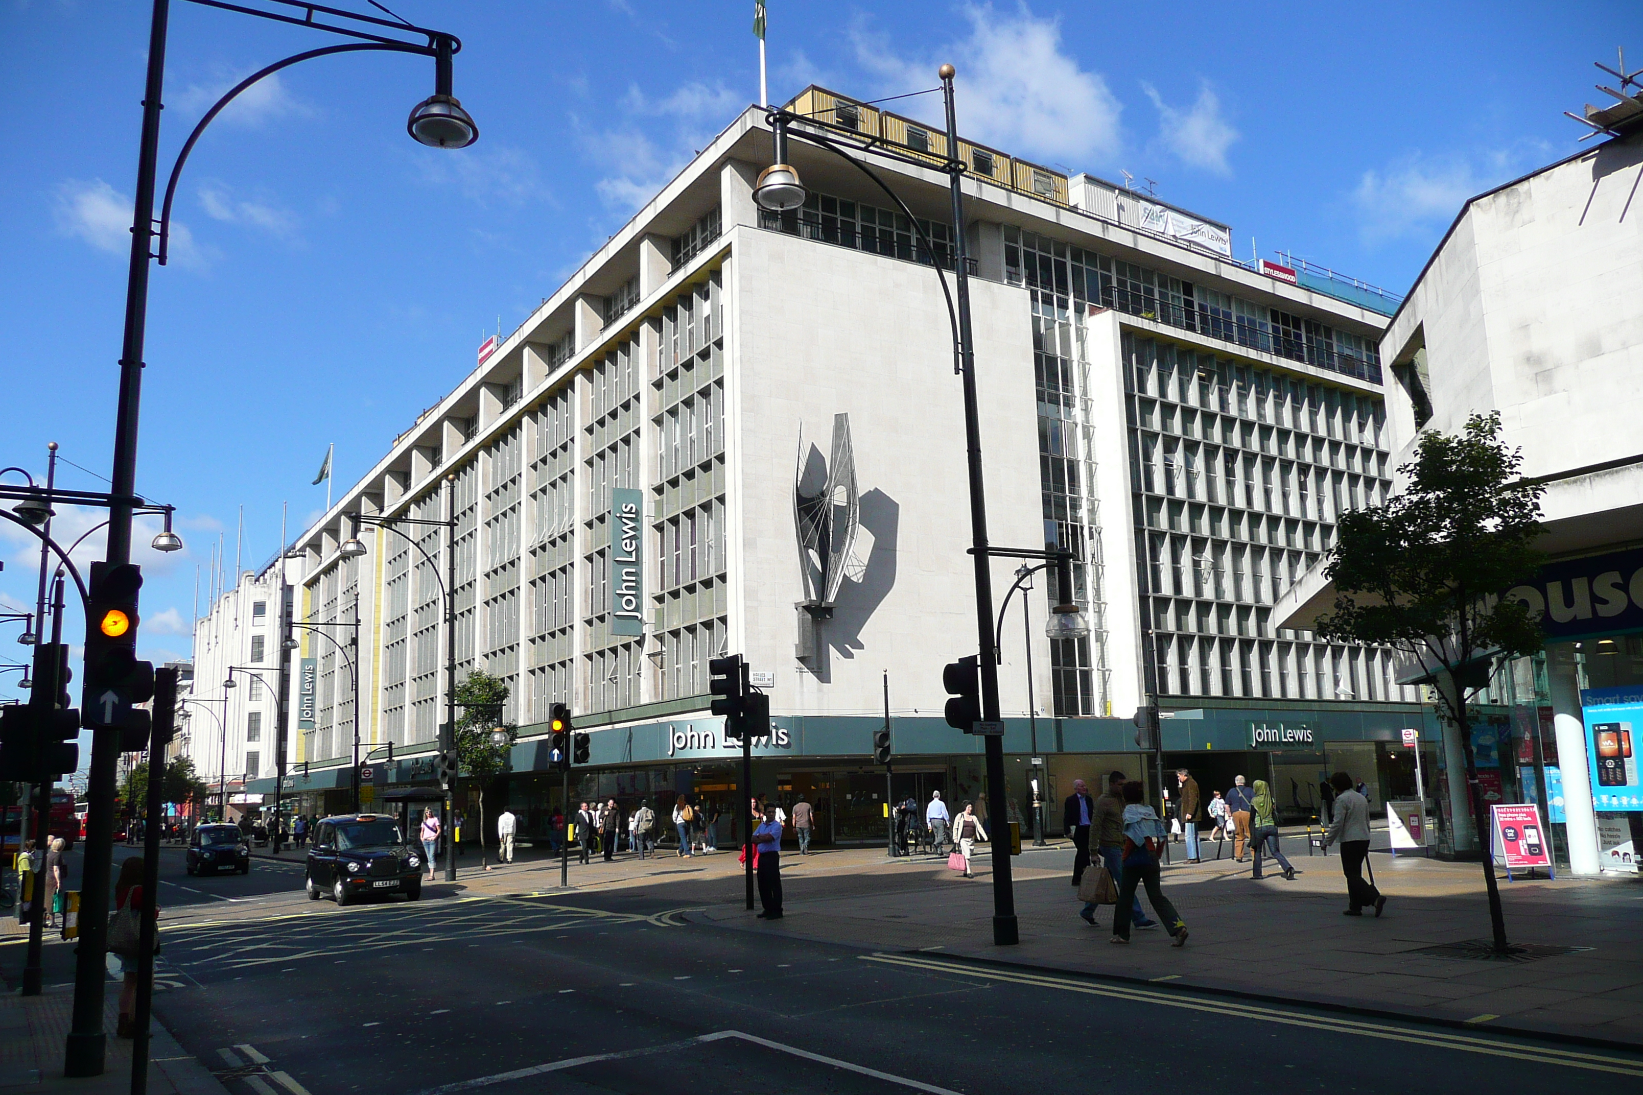
M 941 97 L 946 105 L 946 146 L 958 148 L 958 118 L 953 107 L 953 67 L 941 66 Z M 964 231 L 963 172 L 955 167 L 948 179 L 953 195 L 953 286 L 958 297 L 960 368 L 964 379 L 964 448 L 969 463 L 969 532 L 976 563 L 976 650 L 981 653 L 981 717 L 999 721 L 999 663 L 992 630 L 992 558 L 987 555 L 987 499 L 981 473 L 981 410 L 976 397 L 976 351 L 969 322 L 969 254 Z M 1004 739 L 986 735 L 987 814 L 992 819 L 992 942 L 1020 942 L 1015 921 L 1015 891 L 1010 877 L 1009 798 L 1004 790 Z M 1002 837 L 1002 839 L 1001 839 Z

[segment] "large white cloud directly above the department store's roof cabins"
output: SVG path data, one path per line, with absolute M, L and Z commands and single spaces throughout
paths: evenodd
M 1038 18 L 1025 3 L 1004 15 L 991 3 L 971 3 L 964 16 L 969 38 L 918 57 L 891 53 L 881 36 L 858 23 L 856 59 L 879 77 L 886 94 L 933 87 L 940 64 L 953 61 L 958 125 L 966 136 L 1045 161 L 1112 161 L 1124 107 L 1098 72 L 1063 49 L 1060 20 Z M 940 120 L 938 102 L 909 99 L 899 105 Z

